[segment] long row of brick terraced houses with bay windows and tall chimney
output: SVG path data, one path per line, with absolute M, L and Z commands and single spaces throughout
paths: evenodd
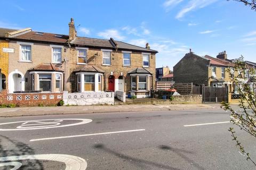
M 148 44 L 78 37 L 73 19 L 69 35 L 30 28 L 2 32 L 1 50 L 3 45 L 13 50 L 4 53 L 10 59 L 7 67 L 1 62 L 9 93 L 124 91 L 140 98 L 155 87 L 157 51 Z

